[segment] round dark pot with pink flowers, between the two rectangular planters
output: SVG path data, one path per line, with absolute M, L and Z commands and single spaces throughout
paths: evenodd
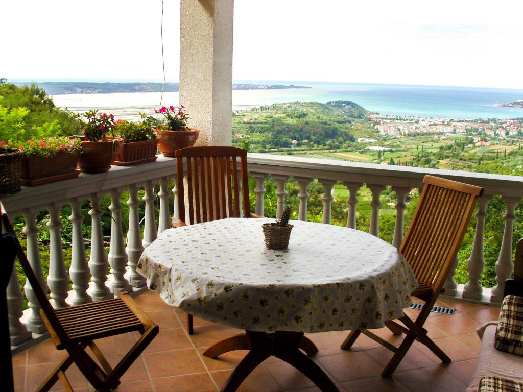
M 122 139 L 115 137 L 112 131 L 115 117 L 112 114 L 100 114 L 98 110 L 78 113 L 76 117 L 82 123 L 84 132 L 82 136 L 72 136 L 82 141 L 78 168 L 86 173 L 106 172 L 122 148 Z M 107 136 L 109 133 L 112 136 Z

